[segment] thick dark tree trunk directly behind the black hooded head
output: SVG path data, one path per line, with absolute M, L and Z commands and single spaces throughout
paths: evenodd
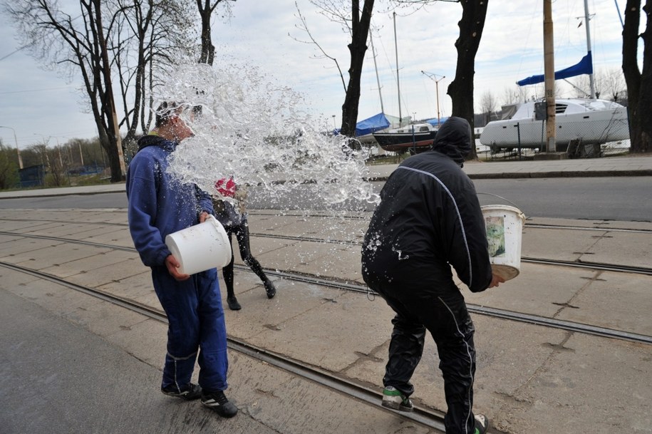
M 480 46 L 482 29 L 485 27 L 487 17 L 487 3 L 489 0 L 462 0 L 462 19 L 457 26 L 460 27 L 460 37 L 455 41 L 457 48 L 457 66 L 455 79 L 448 86 L 447 94 L 452 100 L 452 116 L 465 118 L 474 130 L 473 123 L 473 78 L 475 75 L 475 54 Z M 475 146 L 467 160 L 475 160 L 477 153 Z

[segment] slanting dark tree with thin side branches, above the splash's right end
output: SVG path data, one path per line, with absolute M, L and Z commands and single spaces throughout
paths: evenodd
M 343 28 L 351 35 L 351 43 L 348 44 L 348 52 L 351 54 L 351 63 L 349 63 L 348 67 L 348 85 L 345 86 L 346 95 L 344 97 L 344 103 L 342 104 L 342 125 L 340 133 L 346 135 L 346 137 L 352 138 L 356 135 L 356 123 L 358 123 L 360 78 L 362 75 L 365 53 L 367 51 L 367 38 L 369 36 L 369 27 L 371 26 L 371 14 L 373 12 L 374 0 L 364 0 L 362 10 L 360 9 L 359 0 L 351 0 L 350 9 L 347 4 L 348 2 L 345 0 L 309 1 L 320 9 L 321 14 L 324 14 L 324 16 L 328 17 L 331 21 L 341 24 L 341 26 L 343 26 Z M 300 12 L 299 16 L 302 25 L 304 26 L 302 29 L 309 34 L 311 41 L 318 46 L 326 57 L 336 61 L 335 58 L 327 56 L 324 50 L 321 49 L 321 46 L 319 46 L 314 38 L 312 38 Z M 351 145 L 355 146 L 356 143 L 351 141 Z

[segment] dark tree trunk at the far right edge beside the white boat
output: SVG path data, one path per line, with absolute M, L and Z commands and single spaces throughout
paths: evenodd
M 652 152 L 652 0 L 643 12 L 646 29 L 638 33 L 641 0 L 627 0 L 623 26 L 623 73 L 627 83 L 629 130 L 632 153 Z M 643 40 L 643 71 L 638 69 L 638 38 Z

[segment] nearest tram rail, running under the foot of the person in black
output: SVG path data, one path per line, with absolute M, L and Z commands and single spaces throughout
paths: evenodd
M 128 309 L 137 314 L 143 315 L 149 319 L 153 319 L 163 324 L 167 324 L 167 316 L 165 316 L 165 313 L 160 309 L 153 308 L 152 306 L 146 306 L 136 301 L 125 299 L 123 297 L 116 296 L 115 294 L 110 294 L 100 289 L 74 284 L 70 281 L 66 281 L 65 279 L 61 279 L 60 277 L 39 272 L 26 267 L 21 267 L 16 264 L 8 264 L 6 262 L 0 262 L 0 267 L 11 269 L 15 272 L 29 274 L 33 277 L 37 277 L 38 279 L 43 279 L 46 281 L 50 281 L 54 284 L 65 286 L 68 289 L 72 289 L 74 291 L 81 292 L 82 294 L 93 296 L 102 301 L 106 301 L 110 304 L 114 304 L 115 306 L 120 306 L 123 309 Z M 346 378 L 333 375 L 333 373 L 329 373 L 328 371 L 324 371 L 323 369 L 316 368 L 314 366 L 309 366 L 308 364 L 302 363 L 301 361 L 288 358 L 282 354 L 275 353 L 274 351 L 269 351 L 264 348 L 253 346 L 247 343 L 246 341 L 242 341 L 241 339 L 234 339 L 233 337 L 230 336 L 227 336 L 227 346 L 232 351 L 237 351 L 238 353 L 244 354 L 245 356 L 249 356 L 250 358 L 253 358 L 261 363 L 267 363 L 271 366 L 286 371 L 293 376 L 299 376 L 313 383 L 317 383 L 321 386 L 331 388 L 335 391 L 343 393 L 345 396 L 348 396 L 349 398 L 353 398 L 358 401 L 363 401 L 368 405 L 381 407 L 381 405 L 379 405 L 379 403 L 383 398 L 381 393 L 378 393 L 377 391 L 374 391 L 371 388 L 365 387 L 361 384 L 354 383 L 353 381 L 349 381 Z M 387 411 L 392 411 L 392 410 L 387 410 Z M 400 412 L 399 414 L 403 418 L 411 420 L 414 423 L 423 425 L 424 427 L 437 430 L 440 433 L 443 433 L 445 431 L 443 413 L 439 413 L 433 410 L 429 410 L 427 408 L 420 408 L 418 406 L 415 406 L 414 411 L 412 413 Z

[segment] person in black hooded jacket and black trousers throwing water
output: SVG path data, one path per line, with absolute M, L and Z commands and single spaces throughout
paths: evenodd
M 450 118 L 432 150 L 401 163 L 383 187 L 362 249 L 364 280 L 396 313 L 383 405 L 413 410 L 410 378 L 427 329 L 444 378 L 447 434 L 482 434 L 488 426 L 472 413 L 475 328 L 450 267 L 472 292 L 504 281 L 492 274 L 480 203 L 461 170 L 471 145 L 467 120 Z

